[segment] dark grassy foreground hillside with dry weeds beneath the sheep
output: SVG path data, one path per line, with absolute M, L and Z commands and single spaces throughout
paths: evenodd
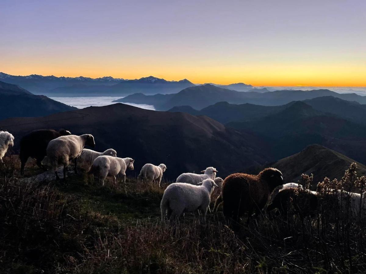
M 249 226 L 208 214 L 160 221 L 163 188 L 135 178 L 100 186 L 85 174 L 67 182 L 0 170 L 0 259 L 5 273 L 344 273 L 365 271 L 365 225 L 330 225 L 327 203 L 310 220 L 262 215 Z M 31 166 L 30 166 L 31 168 Z M 351 171 L 352 173 L 352 171 Z M 304 182 L 306 183 L 306 182 Z M 213 193 L 213 200 L 218 195 Z M 212 208 L 211 203 L 210 207 Z M 327 207 L 328 206 L 328 207 Z M 330 212 L 330 211 L 329 211 Z M 329 224 L 329 225 L 328 225 Z M 44 271 L 44 272 L 43 272 Z

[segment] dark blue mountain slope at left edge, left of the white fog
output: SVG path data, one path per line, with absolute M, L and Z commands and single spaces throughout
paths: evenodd
M 8 117 L 36 117 L 76 110 L 76 107 L 52 100 L 0 81 L 0 119 Z

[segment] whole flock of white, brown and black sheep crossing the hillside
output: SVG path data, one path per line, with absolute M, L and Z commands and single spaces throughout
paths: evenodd
M 14 136 L 7 131 L 0 131 L 0 163 L 10 147 L 14 146 Z M 117 157 L 117 151 L 110 148 L 104 152 L 97 152 L 84 148 L 94 148 L 96 142 L 91 134 L 73 135 L 60 129 L 35 130 L 20 140 L 19 158 L 20 173 L 24 174 L 25 164 L 29 157 L 36 159 L 38 167 L 54 172 L 56 179 L 60 179 L 58 167 L 63 167 L 63 179 L 67 180 L 70 163 L 74 163 L 74 173 L 78 174 L 78 163 L 83 171 L 99 178 L 104 186 L 105 179 L 112 177 L 117 184 L 117 177 L 126 182 L 126 171 L 134 170 L 134 159 L 131 157 Z M 47 156 L 49 167 L 42 164 Z M 118 156 L 120 156 L 118 154 Z M 137 182 L 161 187 L 161 180 L 167 165 L 161 163 L 143 165 Z M 217 170 L 207 167 L 201 174 L 182 173 L 175 183 L 171 183 L 164 191 L 160 203 L 161 220 L 174 220 L 184 216 L 184 213 L 199 212 L 203 220 L 207 212 L 216 213 L 220 205 L 223 206 L 225 219 L 240 221 L 247 214 L 247 223 L 252 214 L 275 212 L 288 216 L 290 206 L 293 214 L 302 217 L 317 216 L 318 205 L 324 195 L 317 191 L 306 189 L 297 183 L 284 184 L 283 175 L 276 168 L 265 168 L 257 175 L 234 173 L 225 179 L 216 177 Z M 214 201 L 211 212 L 213 189 L 219 189 L 219 196 Z M 337 206 L 343 210 L 350 209 L 353 217 L 366 210 L 366 199 L 359 193 L 345 190 L 333 191 Z M 346 207 L 347 205 L 347 207 Z

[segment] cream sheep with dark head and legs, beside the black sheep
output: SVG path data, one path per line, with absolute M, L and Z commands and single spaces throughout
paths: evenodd
M 66 179 L 66 171 L 70 161 L 74 160 L 75 174 L 78 174 L 78 157 L 80 156 L 85 145 L 95 147 L 94 137 L 91 134 L 67 135 L 60 136 L 51 140 L 48 143 L 46 152 L 51 164 L 51 170 L 56 174 L 56 180 L 60 177 L 57 174 L 57 166 L 62 164 L 64 166 L 64 179 Z

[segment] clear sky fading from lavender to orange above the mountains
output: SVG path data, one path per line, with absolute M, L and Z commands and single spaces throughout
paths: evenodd
M 0 71 L 366 86 L 365 0 L 2 0 Z

